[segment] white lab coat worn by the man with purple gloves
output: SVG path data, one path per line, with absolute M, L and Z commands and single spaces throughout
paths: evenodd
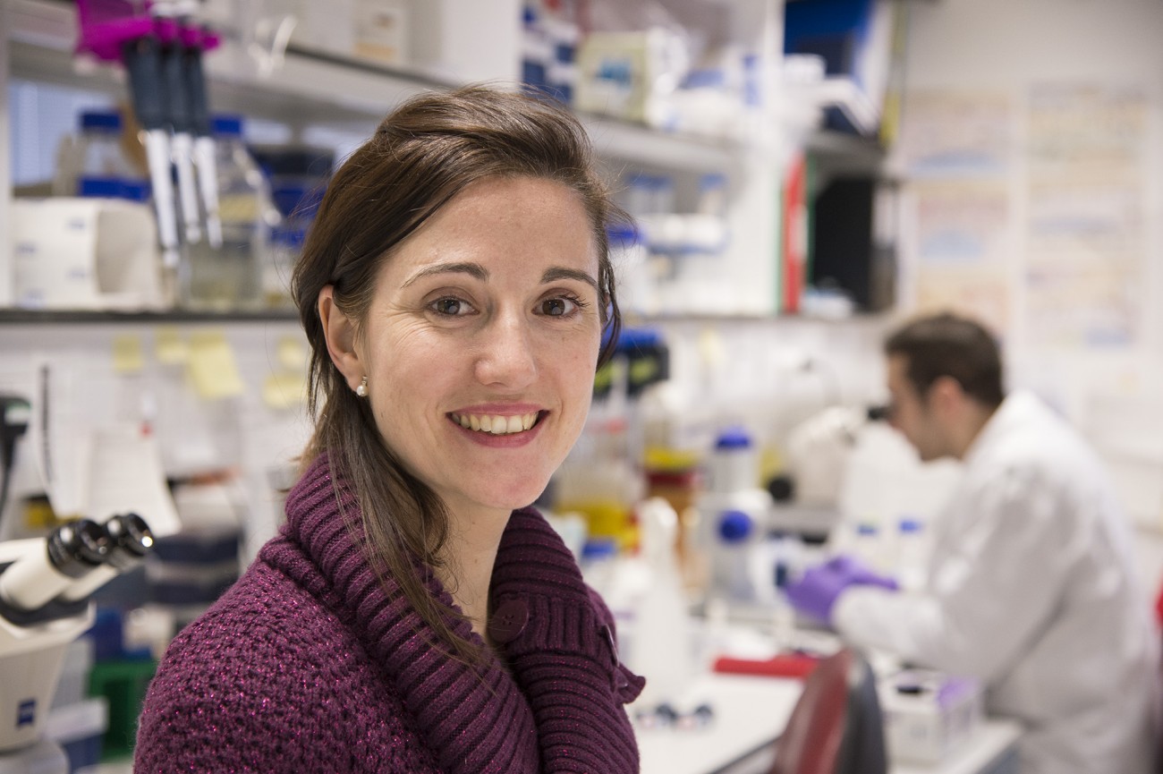
M 1021 774 L 1149 774 L 1158 634 L 1099 461 L 1037 398 L 1005 399 L 933 523 L 918 594 L 846 590 L 850 642 L 971 675 L 1016 718 Z

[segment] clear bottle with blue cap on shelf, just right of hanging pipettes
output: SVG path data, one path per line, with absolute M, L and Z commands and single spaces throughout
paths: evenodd
M 263 267 L 272 260 L 271 229 L 279 214 L 243 143 L 242 119 L 219 115 L 213 126 L 222 247 L 214 249 L 207 240 L 186 246 L 181 301 L 191 308 L 255 308 L 262 304 Z

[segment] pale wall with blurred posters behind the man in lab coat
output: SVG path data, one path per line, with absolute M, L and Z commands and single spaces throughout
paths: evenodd
M 962 306 L 1099 447 L 1163 570 L 1163 5 L 913 3 L 902 307 Z M 969 237 L 969 239 L 965 239 Z

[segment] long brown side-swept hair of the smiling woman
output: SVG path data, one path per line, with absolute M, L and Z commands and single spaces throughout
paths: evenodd
M 399 464 L 368 402 L 355 396 L 333 364 L 317 299 L 321 289 L 333 285 L 336 307 L 355 320 L 358 335 L 376 277 L 393 249 L 465 186 L 495 177 L 562 183 L 585 207 L 598 249 L 606 334 L 597 369 L 609 357 L 621 326 L 606 228 L 626 215 L 598 176 L 585 129 L 550 102 L 468 86 L 401 104 L 328 184 L 292 278 L 312 347 L 308 409 L 316 418 L 304 468 L 327 454 L 333 473 L 342 474 L 359 503 L 372 567 L 399 584 L 455 656 L 472 662 L 479 653 L 454 633 L 452 611 L 428 592 L 415 570 L 418 562 L 429 570 L 441 567 L 448 512 Z

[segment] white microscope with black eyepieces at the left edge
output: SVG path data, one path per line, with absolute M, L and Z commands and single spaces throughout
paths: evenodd
M 28 414 L 27 402 L 0 395 L 0 514 Z M 93 625 L 93 591 L 144 561 L 152 546 L 136 513 L 0 541 L 0 772 L 69 774 L 64 751 L 44 736 L 65 652 Z

